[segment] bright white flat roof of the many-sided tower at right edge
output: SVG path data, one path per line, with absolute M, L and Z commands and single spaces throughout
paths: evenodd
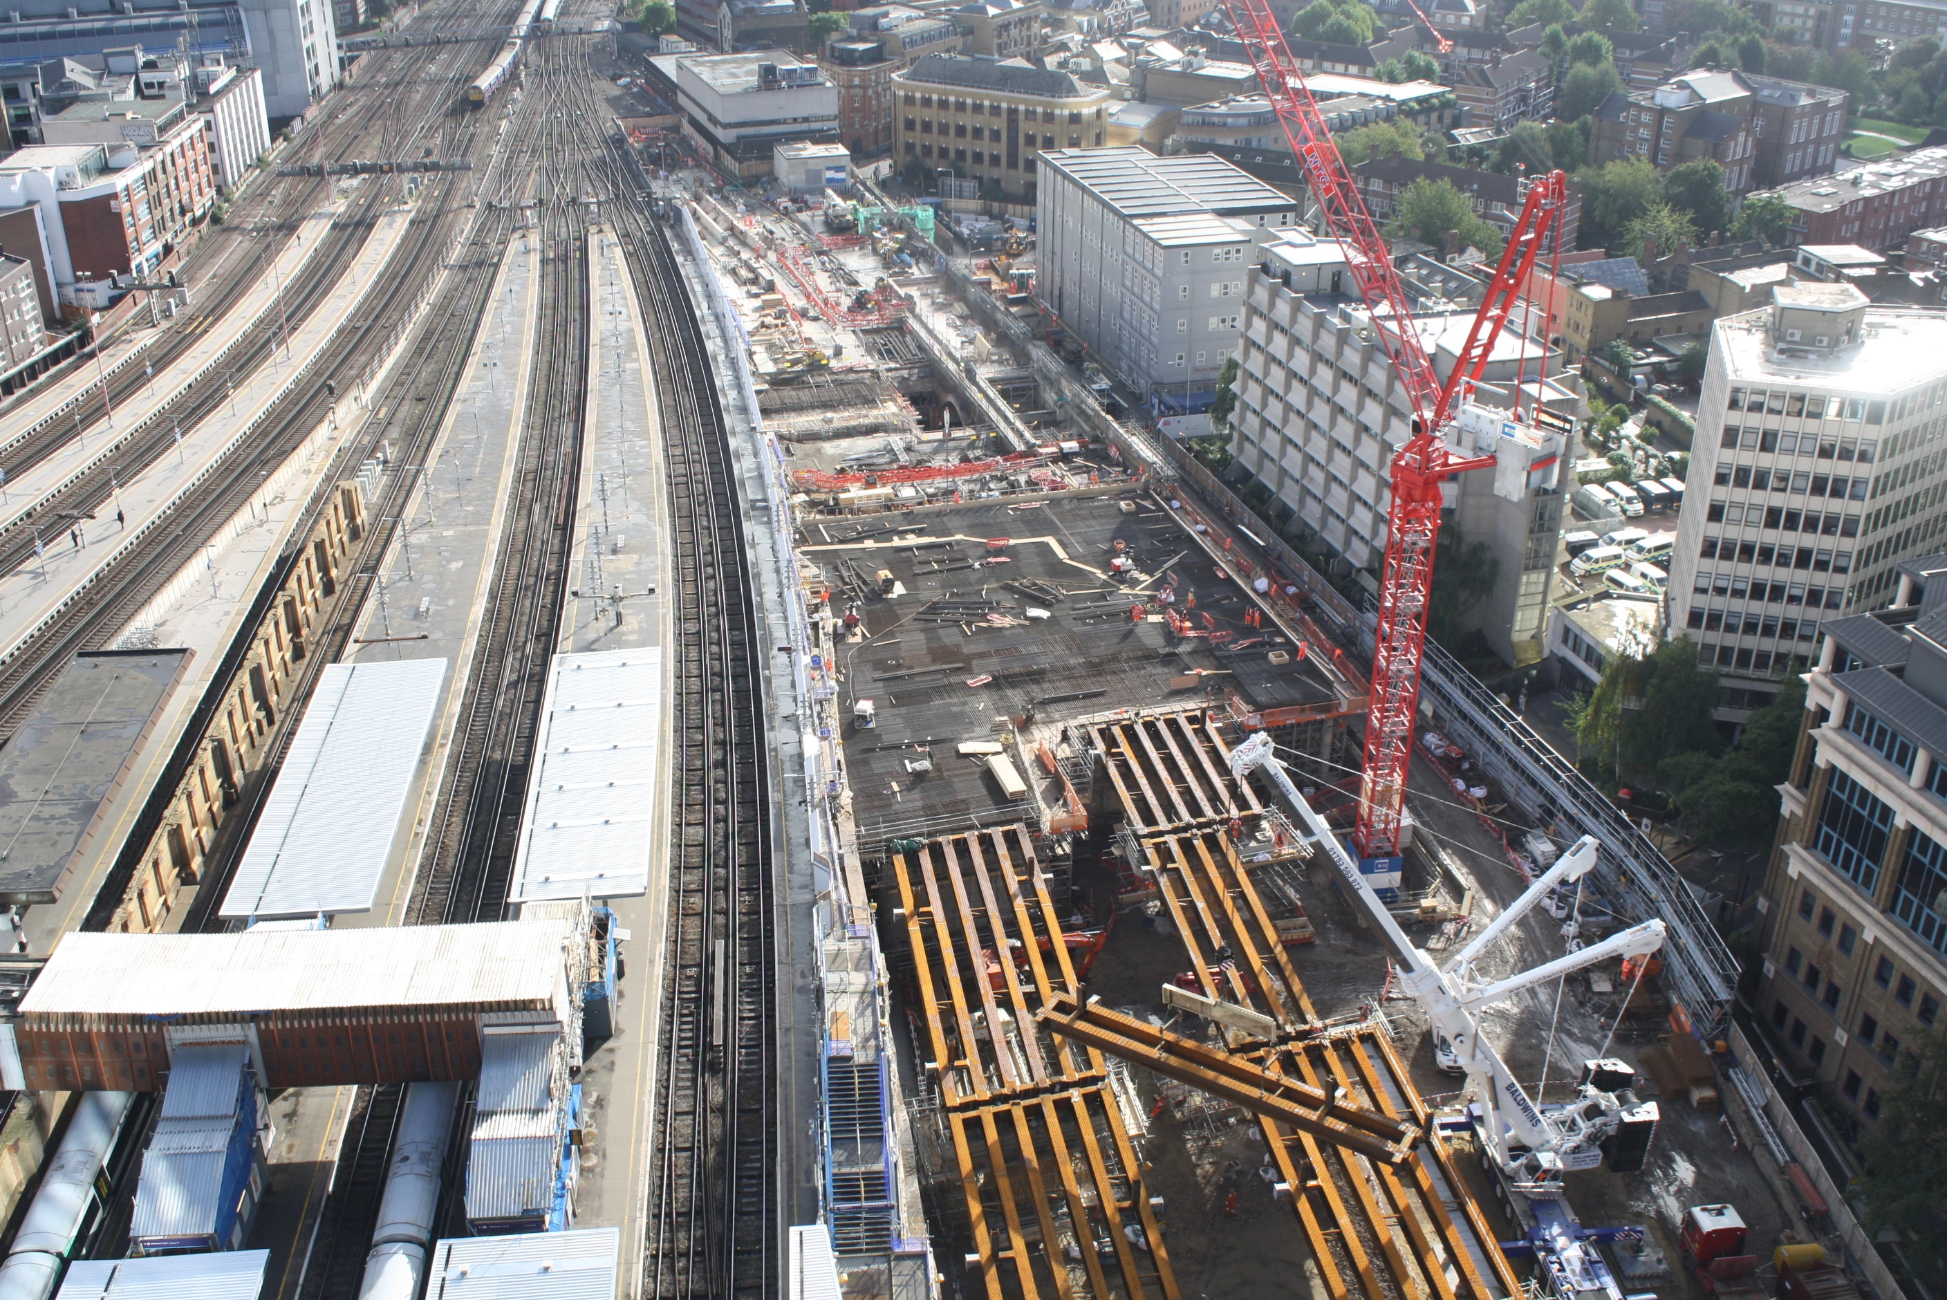
M 1850 284 L 1826 288 L 1857 292 Z M 1770 307 L 1715 321 L 1715 346 L 1733 381 L 1780 379 L 1867 395 L 1904 393 L 1947 376 L 1947 315 L 1939 311 L 1867 307 L 1861 343 L 1811 356 L 1774 352 L 1770 321 Z

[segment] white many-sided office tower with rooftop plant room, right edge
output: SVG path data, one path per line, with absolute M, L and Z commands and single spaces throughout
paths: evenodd
M 1939 549 L 1943 401 L 1947 313 L 1803 282 L 1711 327 L 1669 629 L 1741 701 L 1719 718 L 1770 703 L 1828 619 Z

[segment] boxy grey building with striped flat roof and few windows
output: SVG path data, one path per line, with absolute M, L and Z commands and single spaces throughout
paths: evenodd
M 1256 243 L 1299 202 L 1221 158 L 1042 154 L 1034 292 L 1155 411 L 1205 411 L 1244 327 Z

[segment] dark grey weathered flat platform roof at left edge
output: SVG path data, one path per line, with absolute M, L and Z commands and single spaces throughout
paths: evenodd
M 56 903 L 189 650 L 78 654 L 0 749 L 0 903 Z

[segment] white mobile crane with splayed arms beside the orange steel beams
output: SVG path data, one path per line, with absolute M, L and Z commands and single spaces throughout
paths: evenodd
M 1563 1170 L 1587 1170 L 1602 1162 L 1602 1142 L 1622 1127 L 1626 1111 L 1641 1109 L 1628 1098 L 1618 1100 L 1614 1092 L 1600 1084 L 1614 1078 L 1608 1068 L 1585 1065 L 1583 1074 L 1593 1082 L 1579 1086 L 1571 1105 L 1542 1111 L 1515 1078 L 1501 1053 L 1482 1035 L 1474 1022 L 1474 1012 L 1491 1002 L 1509 998 L 1523 989 L 1548 983 L 1569 971 L 1595 965 L 1608 957 L 1647 957 L 1663 946 L 1663 922 L 1645 921 L 1610 938 L 1589 944 L 1579 952 L 1546 961 L 1507 979 L 1484 981 L 1478 971 L 1482 952 L 1507 932 L 1528 909 L 1540 903 L 1552 889 L 1573 884 L 1595 866 L 1598 843 L 1585 835 L 1556 864 L 1540 876 L 1526 893 L 1507 907 L 1493 922 L 1482 930 L 1466 948 L 1437 965 L 1421 948 L 1406 936 L 1400 922 L 1392 919 L 1386 905 L 1373 893 L 1359 864 L 1326 825 L 1324 817 L 1312 812 L 1304 796 L 1291 782 L 1285 765 L 1273 753 L 1269 734 L 1258 732 L 1248 741 L 1231 751 L 1231 771 L 1242 780 L 1250 771 L 1264 771 L 1271 784 L 1285 796 L 1291 812 L 1299 817 L 1304 835 L 1318 845 L 1338 868 L 1345 887 L 1386 936 L 1398 959 L 1400 985 L 1427 1012 L 1433 1031 L 1435 1057 L 1449 1068 L 1458 1066 L 1474 1082 L 1480 1103 L 1480 1138 L 1486 1156 L 1523 1193 L 1556 1195 Z

